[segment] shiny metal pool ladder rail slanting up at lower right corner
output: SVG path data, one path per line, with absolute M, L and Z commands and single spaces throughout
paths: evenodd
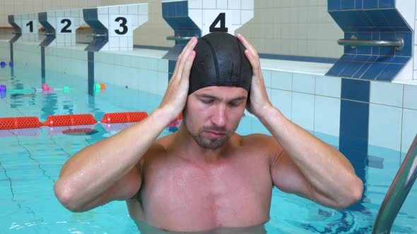
M 417 135 L 378 212 L 372 234 L 390 233 L 399 209 L 409 195 L 417 176 Z

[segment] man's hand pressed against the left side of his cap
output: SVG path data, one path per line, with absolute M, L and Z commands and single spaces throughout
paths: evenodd
M 193 37 L 187 46 L 184 47 L 180 56 L 178 56 L 174 73 L 160 103 L 159 109 L 163 110 L 170 121 L 175 120 L 182 113 L 187 101 L 189 73 L 196 56 L 196 51 L 194 51 L 196 44 L 197 39 Z

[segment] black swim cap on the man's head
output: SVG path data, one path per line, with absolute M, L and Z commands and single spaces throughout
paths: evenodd
M 242 87 L 249 93 L 252 66 L 245 47 L 227 32 L 212 32 L 199 38 L 196 58 L 189 75 L 189 92 L 209 86 Z

